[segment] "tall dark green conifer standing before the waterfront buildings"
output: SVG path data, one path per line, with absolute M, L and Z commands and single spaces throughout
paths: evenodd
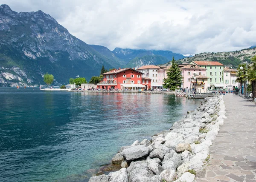
M 174 57 L 172 57 L 172 66 L 167 71 L 167 79 L 164 79 L 163 88 L 169 88 L 175 90 L 182 84 L 182 75 L 180 68 L 175 63 Z

